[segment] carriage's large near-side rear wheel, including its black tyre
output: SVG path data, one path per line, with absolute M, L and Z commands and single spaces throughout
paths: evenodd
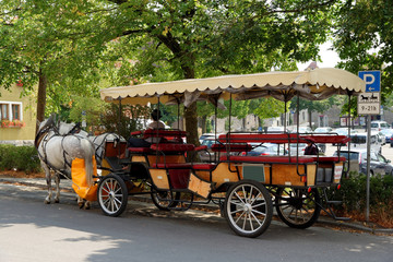
M 242 237 L 258 237 L 272 222 L 273 204 L 260 182 L 241 180 L 226 193 L 224 214 L 230 228 Z

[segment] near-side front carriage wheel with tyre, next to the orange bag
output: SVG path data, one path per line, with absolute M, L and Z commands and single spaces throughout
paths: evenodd
M 128 190 L 121 177 L 105 176 L 98 184 L 98 203 L 105 215 L 119 216 L 127 207 Z

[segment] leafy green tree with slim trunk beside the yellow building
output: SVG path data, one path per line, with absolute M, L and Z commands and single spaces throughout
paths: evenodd
M 0 3 L 0 85 L 10 88 L 20 82 L 28 92 L 38 83 L 39 121 L 44 120 L 47 97 L 60 106 L 70 94 L 97 92 L 86 88 L 96 81 L 97 51 L 85 45 L 85 35 L 71 29 L 88 20 L 76 5 L 73 1 Z

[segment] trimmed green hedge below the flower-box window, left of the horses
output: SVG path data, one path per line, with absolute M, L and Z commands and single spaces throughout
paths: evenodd
M 34 146 L 0 144 L 0 170 L 11 169 L 39 172 L 41 168 L 37 150 Z

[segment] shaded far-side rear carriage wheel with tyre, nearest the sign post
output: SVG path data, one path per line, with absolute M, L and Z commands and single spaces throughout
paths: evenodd
M 279 218 L 294 228 L 312 226 L 321 213 L 317 189 L 308 192 L 307 189 L 279 188 L 275 202 Z

